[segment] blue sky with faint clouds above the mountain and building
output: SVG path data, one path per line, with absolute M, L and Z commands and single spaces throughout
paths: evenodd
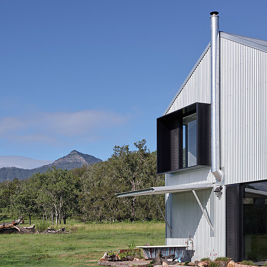
M 267 40 L 266 9 L 266 0 L 0 0 L 0 166 L 74 149 L 106 160 L 141 139 L 156 150 L 156 118 L 208 45 L 209 13 L 220 12 L 221 31 Z

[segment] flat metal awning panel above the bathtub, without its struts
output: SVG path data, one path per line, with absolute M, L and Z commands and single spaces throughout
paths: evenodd
M 174 185 L 174 186 L 157 186 L 150 187 L 146 189 L 140 189 L 135 191 L 117 193 L 117 197 L 127 197 L 127 196 L 144 196 L 144 195 L 157 195 L 166 193 L 178 193 L 184 191 L 208 189 L 214 186 L 213 183 L 203 183 L 203 184 L 187 184 L 187 185 Z

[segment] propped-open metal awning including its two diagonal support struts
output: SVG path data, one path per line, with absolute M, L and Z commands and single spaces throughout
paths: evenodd
M 205 216 L 207 222 L 209 223 L 212 232 L 214 232 L 214 227 L 211 223 L 210 218 L 208 217 L 205 209 L 203 208 L 195 190 L 203 190 L 203 189 L 209 189 L 209 188 L 213 188 L 214 184 L 213 183 L 203 183 L 203 184 L 189 184 L 189 185 L 174 185 L 174 186 L 157 186 L 157 187 L 150 187 L 150 188 L 146 188 L 146 189 L 140 189 L 140 190 L 135 190 L 135 191 L 129 191 L 129 192 L 123 192 L 123 193 L 117 193 L 115 194 L 117 197 L 128 197 L 128 196 L 144 196 L 144 195 L 158 195 L 158 194 L 167 194 L 167 193 L 178 193 L 178 192 L 185 192 L 185 191 L 191 191 L 193 193 L 193 195 L 196 198 L 196 201 L 200 207 L 200 209 L 203 212 L 203 215 Z M 166 222 L 168 228 L 171 231 L 171 234 L 173 233 L 173 229 L 170 226 L 170 224 L 168 223 L 168 221 L 166 220 L 164 213 L 162 212 L 156 198 L 153 196 L 159 210 L 160 213 L 162 214 L 164 221 Z

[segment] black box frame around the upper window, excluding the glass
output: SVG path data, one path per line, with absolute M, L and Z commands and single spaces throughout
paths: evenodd
M 211 165 L 210 104 L 194 103 L 157 119 L 157 173 L 177 173 Z M 196 113 L 196 164 L 184 167 L 183 121 Z M 185 137 L 186 138 L 186 137 Z

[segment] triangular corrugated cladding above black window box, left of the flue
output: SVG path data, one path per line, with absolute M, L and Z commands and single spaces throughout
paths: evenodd
M 166 114 L 189 106 L 195 102 L 211 103 L 210 61 L 211 48 L 207 50 Z

